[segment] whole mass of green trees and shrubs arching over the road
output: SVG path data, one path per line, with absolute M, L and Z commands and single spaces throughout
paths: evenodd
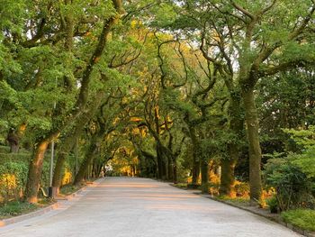
M 0 0 L 0 204 L 157 178 L 315 208 L 314 0 Z

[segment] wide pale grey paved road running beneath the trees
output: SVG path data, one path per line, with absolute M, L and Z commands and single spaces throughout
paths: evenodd
M 60 208 L 0 228 L 7 237 L 300 236 L 229 205 L 146 178 L 103 178 Z

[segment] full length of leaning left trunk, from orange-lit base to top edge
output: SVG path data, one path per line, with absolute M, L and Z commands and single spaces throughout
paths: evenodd
M 114 8 L 112 8 L 110 4 L 112 4 Z M 92 55 L 90 55 L 90 58 L 86 59 L 86 66 L 82 72 L 81 87 L 71 113 L 67 112 L 67 116 L 64 118 L 64 120 L 58 121 L 58 119 L 54 119 L 53 122 L 57 122 L 58 124 L 52 124 L 52 128 L 45 132 L 44 135 L 41 135 L 35 143 L 35 148 L 30 163 L 28 182 L 25 190 L 25 199 L 28 202 L 37 202 L 37 192 L 39 189 L 42 160 L 49 142 L 55 140 L 59 136 L 60 132 L 65 129 L 72 120 L 76 120 L 79 114 L 81 114 L 85 109 L 89 94 L 89 84 L 92 80 L 92 77 L 94 76 L 92 73 L 94 70 L 94 65 L 98 63 L 103 55 L 107 37 L 111 32 L 112 25 L 116 22 L 118 13 L 121 13 L 121 1 L 112 1 L 112 3 L 108 3 L 107 14 L 104 14 L 103 28 L 101 30 L 102 32 L 99 35 L 98 41 L 96 42 L 94 52 Z M 62 20 L 63 19 L 61 18 L 61 24 L 64 23 Z M 73 40 L 73 38 L 71 38 L 71 40 Z

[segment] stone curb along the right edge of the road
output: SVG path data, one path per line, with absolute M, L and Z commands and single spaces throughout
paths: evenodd
M 170 184 L 170 186 L 176 187 L 173 184 Z M 181 187 L 177 187 L 177 188 L 182 189 L 182 190 L 186 190 L 186 191 L 191 191 L 191 193 L 194 194 L 194 195 L 199 195 L 199 196 L 202 196 L 204 198 L 209 198 L 209 199 L 211 199 L 213 201 L 216 201 L 216 202 L 219 202 L 219 203 L 222 203 L 222 204 L 225 204 L 225 205 L 230 205 L 230 206 L 236 207 L 238 209 L 241 209 L 243 211 L 247 211 L 249 213 L 257 214 L 259 216 L 265 217 L 266 219 L 268 219 L 270 221 L 273 221 L 275 223 L 279 223 L 281 225 L 284 225 L 284 227 L 292 230 L 293 232 L 300 233 L 300 234 L 302 234 L 302 235 L 304 235 L 306 237 L 315 237 L 315 232 L 309 232 L 309 231 L 302 230 L 299 227 L 296 227 L 296 226 L 294 226 L 291 223 L 284 223 L 284 221 L 282 221 L 279 216 L 272 216 L 272 215 L 262 214 L 260 212 L 257 212 L 255 210 L 253 210 L 253 209 L 250 209 L 250 208 L 248 208 L 246 206 L 234 205 L 234 204 L 231 204 L 229 202 L 226 202 L 226 201 L 217 199 L 215 197 L 212 197 L 211 195 L 202 194 L 202 192 L 200 190 L 197 190 L 197 189 L 188 189 L 188 188 L 181 188 Z

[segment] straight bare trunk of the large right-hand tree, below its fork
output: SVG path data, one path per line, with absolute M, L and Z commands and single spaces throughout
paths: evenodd
M 262 197 L 261 183 L 261 149 L 259 143 L 259 124 L 255 96 L 253 89 L 244 90 L 242 93 L 247 123 L 247 137 L 249 145 L 249 187 L 250 199 L 259 202 Z

